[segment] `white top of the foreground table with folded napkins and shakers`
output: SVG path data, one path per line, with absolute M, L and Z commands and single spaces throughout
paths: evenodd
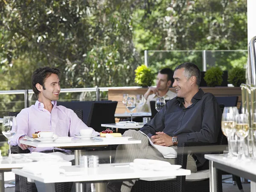
M 34 175 L 28 172 L 22 171 L 22 169 L 12 169 L 17 175 L 23 177 L 29 177 L 34 180 L 41 181 L 43 183 L 59 183 L 59 182 L 78 182 L 78 181 L 103 181 L 103 180 L 125 180 L 125 179 L 137 179 L 137 178 L 150 178 L 150 177 L 169 177 L 190 175 L 190 170 L 177 169 L 172 171 L 145 171 L 145 170 L 133 170 L 127 166 L 116 166 L 119 163 L 112 164 L 100 164 L 99 168 L 88 168 L 88 173 L 84 172 L 82 175 L 65 176 L 60 174 L 58 176 L 51 175 L 42 176 Z M 77 166 L 72 166 L 76 168 Z M 73 169 L 74 170 L 74 169 Z

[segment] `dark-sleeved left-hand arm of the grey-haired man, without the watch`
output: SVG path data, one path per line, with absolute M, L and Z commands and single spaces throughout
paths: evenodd
M 141 129 L 149 138 L 155 135 L 156 132 L 161 132 L 164 129 L 164 118 L 166 115 L 167 106 L 165 106 L 161 111 L 159 111 L 153 119 L 147 122 Z

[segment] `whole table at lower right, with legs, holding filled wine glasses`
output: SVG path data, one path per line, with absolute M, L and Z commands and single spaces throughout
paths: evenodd
M 217 172 L 216 169 L 221 169 L 225 172 L 238 175 L 251 180 L 251 192 L 255 192 L 256 182 L 256 161 L 236 160 L 224 157 L 223 154 L 206 154 L 204 155 L 209 160 L 210 169 L 210 192 L 217 192 Z M 254 181 L 254 182 L 252 182 Z

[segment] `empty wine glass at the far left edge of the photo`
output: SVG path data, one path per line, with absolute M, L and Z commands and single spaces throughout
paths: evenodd
M 11 155 L 11 141 L 10 139 L 17 133 L 17 122 L 15 116 L 4 116 L 2 123 L 2 134 L 8 139 L 9 156 Z

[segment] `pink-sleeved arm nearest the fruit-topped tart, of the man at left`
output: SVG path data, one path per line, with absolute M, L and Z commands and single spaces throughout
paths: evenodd
M 75 134 L 79 134 L 80 129 L 93 129 L 85 125 L 84 122 L 81 119 L 79 119 L 79 117 L 76 115 L 76 113 L 73 110 L 68 108 L 67 110 L 68 110 L 69 119 L 70 119 L 69 132 L 71 137 L 75 137 Z M 93 135 L 99 135 L 99 132 L 94 131 L 93 129 Z

